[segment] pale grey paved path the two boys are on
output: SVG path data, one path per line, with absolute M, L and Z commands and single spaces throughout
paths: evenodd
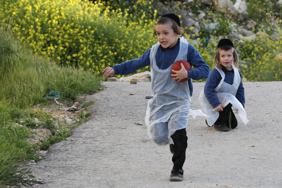
M 282 187 L 282 82 L 244 82 L 247 125 L 238 120 L 236 129 L 219 132 L 204 117 L 190 118 L 183 182 L 169 182 L 169 147 L 147 136 L 151 83 L 103 85 L 87 97 L 95 101 L 89 121 L 30 165 L 45 182 L 38 187 Z M 191 109 L 197 110 L 204 83 L 193 86 Z

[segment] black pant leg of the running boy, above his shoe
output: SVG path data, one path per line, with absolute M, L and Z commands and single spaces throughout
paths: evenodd
M 175 153 L 172 156 L 173 168 L 172 171 L 182 171 L 183 164 L 186 158 L 186 148 L 187 148 L 187 135 L 186 129 L 180 129 L 175 131 L 171 138 L 174 143 Z

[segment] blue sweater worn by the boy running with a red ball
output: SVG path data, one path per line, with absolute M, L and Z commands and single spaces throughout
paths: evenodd
M 173 64 L 175 58 L 179 52 L 179 43 L 172 48 L 164 49 L 160 45 L 156 53 L 156 63 L 159 69 L 167 69 Z M 126 75 L 135 72 L 136 70 L 150 65 L 150 51 L 148 49 L 142 56 L 138 59 L 133 59 L 125 61 L 121 64 L 114 65 L 112 68 L 116 75 Z M 195 69 L 188 70 L 188 78 L 193 80 L 200 80 L 202 78 L 207 78 L 210 72 L 210 67 L 204 62 L 202 56 L 199 54 L 197 49 L 193 45 L 188 45 L 187 61 L 191 64 L 191 67 Z M 193 93 L 193 85 L 191 79 L 188 80 L 188 85 L 190 89 L 190 96 Z

